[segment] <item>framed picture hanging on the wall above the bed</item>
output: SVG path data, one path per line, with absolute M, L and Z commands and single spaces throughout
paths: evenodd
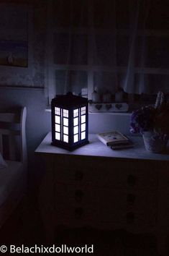
M 0 65 L 28 67 L 27 5 L 1 3 Z

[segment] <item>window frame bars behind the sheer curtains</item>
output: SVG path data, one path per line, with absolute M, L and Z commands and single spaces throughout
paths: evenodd
M 48 17 L 52 17 L 52 1 L 48 2 Z M 91 1 L 92 3 L 93 1 Z M 115 12 L 115 11 L 114 11 Z M 92 6 L 88 15 L 89 22 L 93 24 L 93 12 Z M 71 31 L 69 27 L 53 27 L 52 19 L 48 20 L 47 26 L 47 97 L 48 103 L 50 106 L 50 102 L 56 94 L 56 86 L 55 86 L 55 71 L 56 70 L 65 70 L 69 71 L 86 71 L 88 72 L 88 100 L 91 100 L 91 94 L 94 90 L 93 84 L 93 74 L 94 72 L 112 72 L 114 74 L 125 73 L 127 70 L 127 66 L 117 66 L 117 61 L 115 61 L 115 65 L 95 65 L 93 64 L 93 38 L 94 35 L 127 35 L 129 37 L 129 28 L 128 29 L 101 29 L 96 27 L 73 27 Z M 88 37 L 88 64 L 54 64 L 54 56 L 53 56 L 53 41 L 55 33 L 71 33 L 74 35 L 87 35 Z M 169 29 L 168 30 L 151 30 L 151 29 L 138 29 L 137 36 L 140 37 L 160 37 L 160 38 L 169 38 Z M 116 49 L 115 49 L 116 50 Z M 155 68 L 155 67 L 134 67 L 135 74 L 169 74 L 168 68 Z M 128 101 L 134 102 L 134 93 L 131 93 L 128 97 Z

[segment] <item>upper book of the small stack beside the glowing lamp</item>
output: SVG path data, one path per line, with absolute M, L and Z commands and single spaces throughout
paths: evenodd
M 129 143 L 129 139 L 118 131 L 99 133 L 97 137 L 107 146 Z

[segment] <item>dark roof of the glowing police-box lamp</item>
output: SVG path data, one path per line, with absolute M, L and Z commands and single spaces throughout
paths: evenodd
M 66 95 L 56 95 L 52 103 L 60 107 L 71 108 L 88 103 L 88 99 L 69 92 Z

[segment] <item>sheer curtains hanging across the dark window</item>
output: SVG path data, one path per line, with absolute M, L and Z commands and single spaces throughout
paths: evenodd
M 169 93 L 168 17 L 165 0 L 53 1 L 55 93 Z

